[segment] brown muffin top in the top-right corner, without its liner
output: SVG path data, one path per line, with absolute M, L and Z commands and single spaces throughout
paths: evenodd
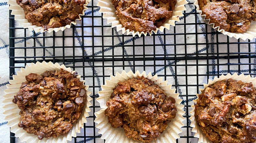
M 256 21 L 255 0 L 199 0 L 205 19 L 228 32 L 246 32 L 251 21 Z

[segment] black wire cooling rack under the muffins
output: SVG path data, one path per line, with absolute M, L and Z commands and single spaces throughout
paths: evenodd
M 92 0 L 88 6 L 87 11 L 92 11 L 89 15 L 82 17 L 82 26 L 72 26 L 71 30 L 73 35 L 63 36 L 65 35 L 64 30 L 61 34 L 55 35 L 52 32 L 51 36 L 47 36 L 46 33 L 43 33 L 41 36 L 38 36 L 36 33 L 33 33 L 32 36 L 28 36 L 28 29 L 23 29 L 22 27 L 16 27 L 14 16 L 11 15 L 10 11 L 10 79 L 12 79 L 12 75 L 15 74 L 15 71 L 21 67 L 24 67 L 27 63 L 45 60 L 46 62 L 52 61 L 53 63 L 58 62 L 59 64 L 69 65 L 68 67 L 73 68 L 73 70 L 82 69 L 81 74 L 84 79 L 92 79 L 92 84 L 89 87 L 89 90 L 92 91 L 91 97 L 93 100 L 91 103 L 91 113 L 87 118 L 88 123 L 84 124 L 84 132 L 82 134 L 77 134 L 77 137 L 72 139 L 72 142 L 104 142 L 104 140 L 100 139 L 100 136 L 97 132 L 98 129 L 95 128 L 95 123 L 93 120 L 95 119 L 94 113 L 100 109 L 97 104 L 96 98 L 98 97 L 97 91 L 100 90 L 100 86 L 97 83 L 97 78 L 105 83 L 105 79 L 109 79 L 110 75 L 105 74 L 105 69 L 112 69 L 112 74 L 115 75 L 116 71 L 130 69 L 132 67 L 133 71 L 138 69 L 142 69 L 144 71 L 152 72 L 152 74 L 157 73 L 159 69 L 161 72 L 158 76 L 163 77 L 163 79 L 172 79 L 173 87 L 176 89 L 176 92 L 180 93 L 180 98 L 183 99 L 183 104 L 185 105 L 184 110 L 186 113 L 183 117 L 186 118 L 185 126 L 182 127 L 183 133 L 181 134 L 181 138 L 177 139 L 178 142 L 197 142 L 197 139 L 193 137 L 191 134 L 190 120 L 189 120 L 189 111 L 191 110 L 190 105 L 193 104 L 192 99 L 195 98 L 195 92 L 199 91 L 199 88 L 203 86 L 203 83 L 207 82 L 207 79 L 212 79 L 214 76 L 219 77 L 221 74 L 225 73 L 234 73 L 238 74 L 251 74 L 256 75 L 255 71 L 255 62 L 256 62 L 256 51 L 255 51 L 255 43 L 256 41 L 250 40 L 236 40 L 234 38 L 229 38 L 224 36 L 222 33 L 216 32 L 211 29 L 206 24 L 198 21 L 199 14 L 196 12 L 196 8 L 192 2 L 186 4 L 186 8 L 190 10 L 183 11 L 184 19 L 181 22 L 177 22 L 176 26 L 170 26 L 170 30 L 173 33 L 168 33 L 167 29 L 163 32 L 159 32 L 158 34 L 152 34 L 152 36 L 142 37 L 142 43 L 136 43 L 136 39 L 138 36 L 132 37 L 132 35 L 117 35 L 114 31 L 114 28 L 111 28 L 109 24 L 103 25 L 103 18 L 101 13 L 99 13 L 99 8 L 96 7 L 96 0 Z M 86 12 L 87 12 L 86 11 Z M 84 20 L 90 19 L 92 21 L 91 25 L 84 25 Z M 94 23 L 95 19 L 100 19 L 101 24 L 96 25 Z M 105 20 L 104 20 L 105 21 Z M 189 21 L 189 22 L 188 22 Z M 186 31 L 189 26 L 195 27 L 195 32 Z M 199 27 L 205 27 L 204 31 L 199 31 Z M 81 35 L 75 35 L 75 28 L 81 29 L 91 29 L 91 35 L 85 35 L 82 30 Z M 95 31 L 97 29 L 101 29 L 101 35 L 95 35 Z M 105 35 L 105 28 L 108 28 L 109 31 L 112 30 L 112 35 Z M 179 32 L 180 29 L 183 29 L 184 32 Z M 200 35 L 204 35 L 204 42 L 199 42 Z M 156 39 L 161 37 L 162 43 L 157 43 Z M 81 46 L 76 46 L 75 38 L 81 38 Z M 121 44 L 114 44 L 114 38 L 118 37 L 121 41 Z M 124 41 L 125 38 L 129 37 L 131 42 L 126 44 Z M 173 39 L 172 43 L 169 43 L 166 39 Z M 194 40 L 188 41 L 189 37 L 195 37 Z M 212 38 L 215 37 L 213 40 Z M 70 46 L 64 46 L 64 39 L 68 38 L 73 43 Z M 84 38 L 91 38 L 91 45 L 84 45 L 86 42 Z M 112 45 L 104 45 L 104 39 L 108 38 L 112 40 Z M 145 43 L 147 38 L 151 38 L 152 43 Z M 42 40 L 42 44 L 40 46 L 36 46 L 37 40 Z M 49 46 L 46 42 L 48 39 L 52 40 L 53 45 Z M 100 45 L 94 43 L 95 39 L 102 39 Z M 16 45 L 17 41 L 24 40 L 25 43 L 23 46 Z M 29 46 L 26 43 L 26 40 L 32 40 L 33 45 Z M 55 40 L 62 40 L 62 46 L 56 46 Z M 156 51 L 156 47 L 162 46 L 163 53 L 158 53 Z M 200 47 L 205 47 L 205 52 L 202 52 Z M 106 47 L 115 48 L 112 49 L 112 54 L 105 54 L 104 51 Z M 153 53 L 147 53 L 147 48 L 150 47 L 153 49 Z M 62 49 L 62 56 L 56 56 L 59 53 L 55 52 L 55 49 Z M 75 55 L 75 50 L 77 48 L 90 49 L 92 50 L 92 55 L 85 55 L 82 52 L 82 55 Z M 129 48 L 133 54 L 126 54 L 125 48 Z M 140 49 L 142 52 L 137 55 L 136 49 Z M 167 53 L 168 49 L 172 48 L 173 51 Z M 190 53 L 190 49 L 194 49 L 195 53 Z M 46 53 L 52 50 L 52 56 L 45 56 Z M 101 49 L 102 53 L 100 55 L 94 54 L 96 49 Z M 122 51 L 121 55 L 115 55 L 116 49 Z M 20 50 L 24 52 L 23 56 L 17 54 Z M 40 51 L 40 55 L 38 55 L 38 50 Z M 73 51 L 73 55 L 66 55 L 67 50 Z M 180 52 L 184 51 L 184 52 Z M 224 52 L 223 52 L 224 51 Z M 30 54 L 30 56 L 29 56 Z M 32 56 L 31 56 L 32 54 Z M 129 63 L 127 61 L 130 61 Z M 169 61 L 172 61 L 170 63 Z M 181 61 L 181 62 L 179 62 Z M 85 62 L 90 62 L 91 65 L 84 64 Z M 79 64 L 77 64 L 79 63 Z M 97 65 L 96 65 L 97 63 Z M 101 65 L 98 65 L 101 63 Z M 192 63 L 192 64 L 191 64 Z M 171 68 L 170 68 L 171 67 Z M 95 69 L 101 69 L 102 74 L 96 74 Z M 180 71 L 179 69 L 183 68 L 184 70 Z M 91 70 L 87 70 L 91 69 Z M 150 70 L 149 70 L 150 69 Z M 235 70 L 234 70 L 235 69 Z M 245 69 L 245 70 L 244 70 Z M 140 70 L 140 71 L 142 71 Z M 172 74 L 168 71 L 170 70 Z M 205 70 L 205 73 L 201 71 Z M 87 72 L 92 71 L 92 72 Z M 200 79 L 203 78 L 203 81 Z M 179 82 L 178 79 L 182 79 L 183 82 Z M 193 79 L 193 80 L 192 80 Z M 191 82 L 196 81 L 196 82 Z M 102 84 L 101 83 L 101 84 Z M 191 89 L 194 89 L 195 92 L 190 92 Z M 192 99 L 191 99 L 192 98 Z M 89 134 L 90 133 L 90 134 Z M 13 133 L 10 133 L 11 143 L 18 142 L 17 138 L 15 138 Z

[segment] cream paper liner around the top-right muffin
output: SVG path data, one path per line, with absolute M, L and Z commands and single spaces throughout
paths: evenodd
M 209 0 L 207 0 L 207 2 L 210 2 Z M 199 8 L 199 4 L 198 4 L 198 0 L 194 0 L 194 5 L 197 7 L 197 12 L 200 14 L 200 16 L 202 17 L 203 21 L 206 23 L 206 24 L 209 24 L 210 23 L 210 19 L 205 19 L 205 14 L 202 14 L 202 10 L 200 10 Z M 252 40 L 253 38 L 256 38 L 256 21 L 252 21 L 251 22 L 251 25 L 250 25 L 250 28 L 244 32 L 244 33 L 233 33 L 233 32 L 227 32 L 225 31 L 224 29 L 220 29 L 219 26 L 214 26 L 213 23 L 209 24 L 213 29 L 223 33 L 224 35 L 227 35 L 229 36 L 230 38 L 234 37 L 236 38 L 237 40 L 239 38 L 243 39 L 243 40 L 246 40 L 246 39 L 249 39 L 249 40 Z

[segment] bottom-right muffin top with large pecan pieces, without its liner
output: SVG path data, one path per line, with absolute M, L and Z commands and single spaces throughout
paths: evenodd
M 195 117 L 213 143 L 252 143 L 256 140 L 256 91 L 252 83 L 218 81 L 199 95 Z

